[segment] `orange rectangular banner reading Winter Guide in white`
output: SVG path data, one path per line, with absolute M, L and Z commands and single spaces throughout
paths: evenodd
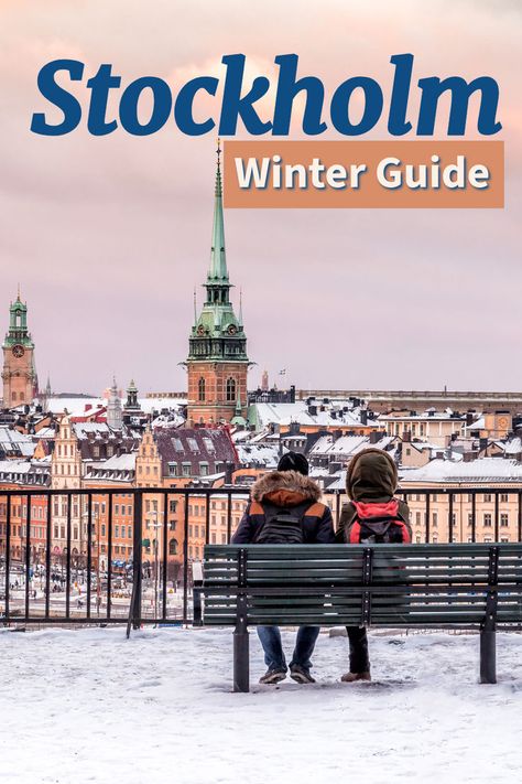
M 225 206 L 503 207 L 502 141 L 226 141 Z

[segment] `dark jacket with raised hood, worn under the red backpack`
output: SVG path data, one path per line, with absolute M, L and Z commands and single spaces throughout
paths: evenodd
M 396 465 L 390 454 L 381 449 L 363 449 L 356 454 L 348 466 L 346 491 L 352 501 L 384 504 L 393 500 L 396 485 Z M 405 523 L 411 541 L 410 507 L 404 501 L 399 501 L 398 511 Z M 356 520 L 357 509 L 350 501 L 342 505 L 336 541 L 350 541 L 351 529 Z

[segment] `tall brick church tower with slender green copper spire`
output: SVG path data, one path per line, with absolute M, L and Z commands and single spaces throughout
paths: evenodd
M 214 227 L 210 266 L 205 303 L 199 314 L 194 308 L 194 324 L 188 340 L 187 426 L 228 423 L 238 415 L 247 415 L 247 335 L 242 309 L 239 318 L 230 302 L 225 226 L 222 217 L 222 185 L 220 147 L 217 149 Z

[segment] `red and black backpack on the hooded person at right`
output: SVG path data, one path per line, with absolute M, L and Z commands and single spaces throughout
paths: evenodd
M 356 517 L 350 530 L 351 545 L 410 543 L 410 531 L 395 498 L 385 503 L 351 502 Z

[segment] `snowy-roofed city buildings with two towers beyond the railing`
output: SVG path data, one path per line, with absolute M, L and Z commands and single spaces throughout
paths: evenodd
M 126 568 L 134 491 L 146 488 L 144 559 L 166 557 L 174 579 L 184 548 L 198 559 L 205 541 L 228 540 L 250 485 L 284 451 L 307 455 L 337 515 L 347 465 L 368 445 L 396 461 L 416 541 L 521 538 L 522 397 L 519 405 L 515 395 L 485 395 L 480 405 L 480 395 L 390 393 L 387 405 L 384 393 L 270 389 L 267 374 L 249 389 L 242 308 L 236 313 L 230 288 L 218 151 L 210 264 L 189 331 L 185 393 L 140 397 L 134 382 L 123 394 L 116 380 L 100 398 L 54 395 L 48 382 L 40 389 L 18 292 L 2 346 L 0 557 L 9 539 L 14 561 L 29 545 L 32 562 L 43 562 L 51 541 L 57 563 L 81 566 L 90 547 L 98 567 Z M 10 500 L 2 491 L 13 491 Z

